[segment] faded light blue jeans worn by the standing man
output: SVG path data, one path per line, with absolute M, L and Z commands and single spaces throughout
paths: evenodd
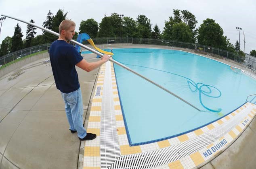
M 67 121 L 69 122 L 69 129 L 78 132 L 78 137 L 84 138 L 86 136 L 86 130 L 83 127 L 83 98 L 81 89 L 71 93 L 62 93 L 62 98 L 65 102 L 65 111 L 67 115 Z

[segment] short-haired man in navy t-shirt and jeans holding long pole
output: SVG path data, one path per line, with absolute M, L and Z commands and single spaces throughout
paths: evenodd
M 57 89 L 65 102 L 65 111 L 71 133 L 78 132 L 80 140 L 92 140 L 96 134 L 87 133 L 83 127 L 83 100 L 75 66 L 90 72 L 109 60 L 104 55 L 97 62 L 88 63 L 69 41 L 75 35 L 76 24 L 64 20 L 59 25 L 59 39 L 50 46 L 50 62 Z

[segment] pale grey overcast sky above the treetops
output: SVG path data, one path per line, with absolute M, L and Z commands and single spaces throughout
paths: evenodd
M 245 33 L 245 52 L 256 50 L 256 1 L 255 0 L 0 0 L 0 14 L 6 14 L 25 21 L 33 19 L 34 24 L 42 26 L 49 10 L 53 14 L 59 9 L 68 12 L 67 18 L 76 22 L 76 31 L 82 20 L 93 18 L 98 23 L 104 14 L 124 14 L 136 20 L 139 14 L 144 14 L 151 20 L 152 28 L 157 24 L 161 31 L 164 21 L 173 16 L 173 9 L 188 10 L 198 21 L 197 28 L 203 20 L 210 18 L 222 27 L 224 35 L 235 44 L 239 40 L 239 32 L 235 27 L 241 27 L 240 43 L 243 50 L 243 31 Z M 2 23 L 0 43 L 6 36 L 13 36 L 15 25 L 21 26 L 23 39 L 26 37 L 27 24 L 6 18 Z M 37 29 L 37 35 L 42 34 Z

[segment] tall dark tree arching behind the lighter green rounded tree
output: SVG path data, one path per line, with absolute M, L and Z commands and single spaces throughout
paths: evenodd
M 169 17 L 169 21 L 165 22 L 165 27 L 163 31 L 164 39 L 172 39 L 172 28 L 174 24 L 179 24 L 181 22 L 185 23 L 189 26 L 190 32 L 192 33 L 191 42 L 196 41 L 197 29 L 195 29 L 195 25 L 198 23 L 195 19 L 195 15 L 187 10 L 173 10 L 173 17 Z

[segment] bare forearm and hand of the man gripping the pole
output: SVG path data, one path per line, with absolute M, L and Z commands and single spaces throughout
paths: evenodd
M 78 62 L 78 64 L 76 64 L 76 66 L 78 66 L 79 68 L 85 70 L 86 72 L 90 72 L 90 71 L 92 71 L 92 70 L 94 70 L 96 68 L 99 68 L 102 64 L 104 64 L 108 60 L 109 60 L 109 56 L 105 54 L 101 58 L 101 60 L 99 60 L 97 62 L 89 63 L 85 59 L 82 59 L 80 62 Z

